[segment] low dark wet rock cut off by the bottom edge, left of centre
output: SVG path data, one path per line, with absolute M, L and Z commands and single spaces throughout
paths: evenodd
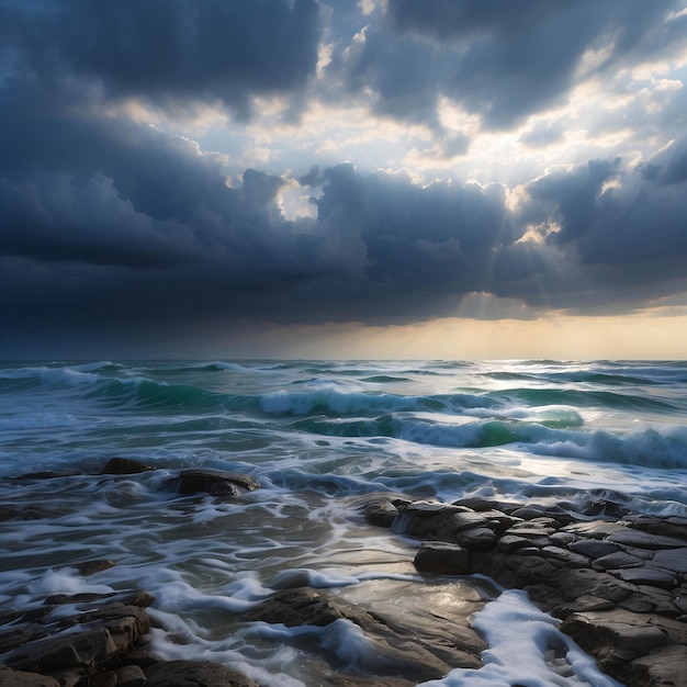
M 258 687 L 232 668 L 210 661 L 169 661 L 145 671 L 146 687 Z

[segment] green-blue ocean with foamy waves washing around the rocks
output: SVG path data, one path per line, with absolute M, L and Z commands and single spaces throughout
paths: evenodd
M 155 466 L 98 473 L 111 458 Z M 180 496 L 187 468 L 252 476 L 237 498 Z M 14 480 L 53 472 L 53 478 Z M 71 474 L 76 473 L 76 474 Z M 238 667 L 260 685 L 325 684 L 315 655 L 374 672 L 352 623 L 245 623 L 290 584 L 349 599 L 486 605 L 485 665 L 432 686 L 611 687 L 556 621 L 485 579 L 428 578 L 418 542 L 365 523 L 360 497 L 610 500 L 687 516 L 687 362 L 136 361 L 0 364 L 0 611 L 53 593 L 147 589 L 151 650 Z M 75 565 L 109 559 L 90 576 Z M 449 600 L 447 600 L 449 599 Z M 463 599 L 465 600 L 463 604 Z M 431 612 L 431 610 L 429 610 Z M 0 661 L 2 656 L 0 656 Z

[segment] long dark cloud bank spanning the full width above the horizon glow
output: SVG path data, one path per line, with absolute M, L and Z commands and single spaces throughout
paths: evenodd
M 179 173 L 201 169 L 219 188 L 212 158 L 167 143 L 161 160 Z M 3 309 L 10 320 L 114 328 L 251 317 L 384 323 L 450 314 L 472 292 L 537 308 L 594 307 L 599 293 L 618 304 L 640 291 L 669 293 L 687 273 L 684 184 L 619 167 L 552 172 L 530 184 L 518 215 L 499 184 L 421 187 L 350 165 L 311 170 L 304 183 L 324 180 L 318 216 L 297 222 L 277 205 L 283 181 L 256 170 L 240 188 L 193 196 L 179 217 L 156 216 L 145 176 L 124 174 L 142 187 L 137 204 L 128 200 L 137 192 L 125 198 L 102 172 L 45 172 L 1 187 Z M 619 185 L 605 188 L 609 180 Z M 536 222 L 559 222 L 559 235 L 530 240 L 523 232 Z

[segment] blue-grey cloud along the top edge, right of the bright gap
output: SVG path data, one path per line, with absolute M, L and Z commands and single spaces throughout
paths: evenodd
M 333 61 L 350 92 L 369 89 L 381 113 L 436 127 L 447 95 L 487 127 L 508 127 L 562 102 L 587 50 L 608 50 L 597 72 L 684 42 L 664 25 L 671 0 L 388 0 L 386 23 Z

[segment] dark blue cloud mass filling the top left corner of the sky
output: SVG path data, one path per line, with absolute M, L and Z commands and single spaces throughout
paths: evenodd
M 46 1 L 5 4 L 0 23 L 23 79 L 77 78 L 161 106 L 219 101 L 243 116 L 254 95 L 306 88 L 322 29 L 315 0 Z

